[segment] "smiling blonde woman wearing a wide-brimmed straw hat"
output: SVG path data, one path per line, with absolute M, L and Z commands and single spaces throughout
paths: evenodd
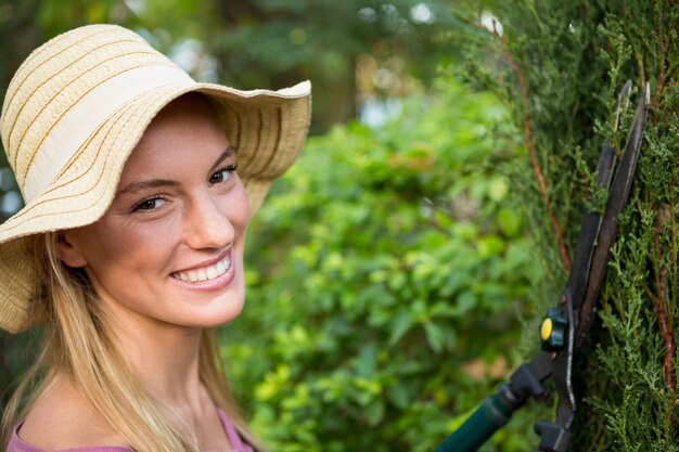
M 245 229 L 302 147 L 309 88 L 196 83 L 112 25 L 28 56 L 0 118 L 26 202 L 0 225 L 0 326 L 44 343 L 9 451 L 260 449 L 214 327 L 243 307 Z

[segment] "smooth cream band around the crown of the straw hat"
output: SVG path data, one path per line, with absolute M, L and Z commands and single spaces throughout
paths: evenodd
M 126 102 L 176 83 L 195 81 L 174 65 L 145 65 L 118 74 L 89 91 L 64 114 L 37 151 L 22 190 L 24 201 L 30 203 L 43 193 L 87 139 Z

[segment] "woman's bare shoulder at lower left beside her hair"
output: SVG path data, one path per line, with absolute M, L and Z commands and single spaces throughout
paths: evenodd
M 64 379 L 38 396 L 18 436 L 46 451 L 126 445 L 125 439 Z

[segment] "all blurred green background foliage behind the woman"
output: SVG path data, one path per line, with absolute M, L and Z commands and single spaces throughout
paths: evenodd
M 452 9 L 483 35 L 484 4 L 0 0 L 1 93 L 31 49 L 97 22 L 136 29 L 196 79 L 312 81 L 312 137 L 251 224 L 247 307 L 222 332 L 272 450 L 433 450 L 535 345 L 531 300 L 550 286 L 521 206 L 528 157 L 502 93 L 461 82 L 470 24 Z M 7 168 L 0 190 L 11 215 Z M 0 388 L 30 343 L 0 334 Z M 535 413 L 515 417 L 484 451 L 533 450 Z

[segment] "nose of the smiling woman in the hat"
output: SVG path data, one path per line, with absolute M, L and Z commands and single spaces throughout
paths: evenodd
M 184 223 L 185 241 L 194 249 L 222 248 L 235 240 L 235 230 L 219 199 L 204 194 L 190 202 Z

